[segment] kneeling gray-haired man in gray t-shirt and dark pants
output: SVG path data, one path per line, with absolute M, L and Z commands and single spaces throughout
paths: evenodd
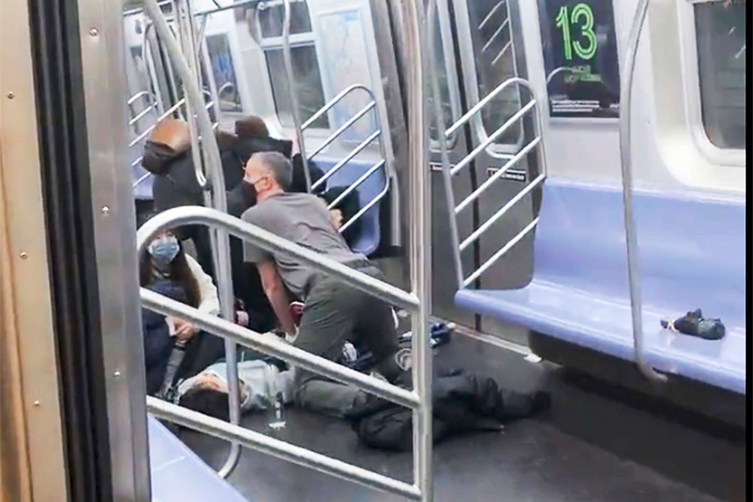
M 364 255 L 348 248 L 335 230 L 322 199 L 308 193 L 285 192 L 291 184 L 292 171 L 290 161 L 276 152 L 254 154 L 248 160 L 244 181 L 255 188 L 257 204 L 243 213 L 243 221 L 382 279 L 380 270 Z M 295 336 L 295 346 L 335 361 L 343 353 L 343 344 L 350 340 L 357 347 L 373 352 L 376 369 L 390 382 L 403 375 L 407 368 L 401 361 L 407 357 L 398 355 L 392 312 L 382 300 L 316 272 L 297 259 L 271 254 L 251 242 L 244 243 L 244 257 L 258 267 L 264 294 L 282 329 Z M 297 335 L 288 292 L 305 303 Z M 321 400 L 332 401 L 331 395 L 325 397 L 312 391 L 321 388 L 313 380 L 316 376 L 312 373 L 297 371 L 299 403 L 305 405 L 318 399 L 321 405 Z M 340 397 L 347 400 L 352 395 L 348 391 Z M 333 405 L 337 414 L 342 409 L 342 403 Z

